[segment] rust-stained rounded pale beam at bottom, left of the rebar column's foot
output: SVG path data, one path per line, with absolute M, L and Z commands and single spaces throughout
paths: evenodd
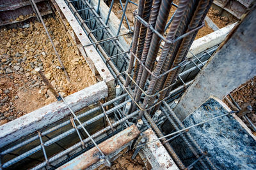
M 139 134 L 140 131 L 136 125 L 131 125 L 131 127 L 127 127 L 127 129 L 124 131 L 119 132 L 115 136 L 100 143 L 99 148 L 102 150 L 104 155 L 109 155 L 135 139 Z M 88 152 L 85 152 L 75 159 L 70 160 L 67 164 L 59 167 L 58 169 L 86 169 L 100 161 L 99 156 L 99 150 L 97 150 L 96 147 L 93 147 L 92 149 L 88 150 Z

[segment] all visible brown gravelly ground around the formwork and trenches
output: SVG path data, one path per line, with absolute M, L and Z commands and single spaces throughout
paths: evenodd
M 125 1 L 122 3 L 124 6 Z M 174 3 L 177 2 L 174 1 Z M 134 24 L 133 12 L 136 8 L 137 6 L 131 3 L 127 7 L 126 15 L 132 27 Z M 176 8 L 173 6 L 170 13 L 175 10 Z M 122 17 L 119 1 L 115 1 L 113 12 L 118 18 Z M 234 23 L 234 20 L 221 17 L 218 15 L 218 11 L 212 8 L 207 16 L 219 28 Z M 59 69 L 60 62 L 54 54 L 41 23 L 31 22 L 24 28 L 17 29 L 1 28 L 0 125 L 56 101 L 34 71 L 35 67 L 43 69 L 45 76 L 63 96 L 68 96 L 96 83 L 96 78 L 90 67 L 79 54 L 76 46 L 72 45 L 68 39 L 68 32 L 65 31 L 63 25 L 51 17 L 45 18 L 45 24 L 70 76 L 70 82 L 67 81 L 64 72 Z M 127 27 L 125 20 L 123 24 Z M 211 32 L 213 30 L 206 24 L 198 31 L 196 39 Z M 256 78 L 234 90 L 232 96 L 240 106 L 244 103 L 250 103 L 253 106 L 253 112 L 248 114 L 248 117 L 256 124 Z M 248 125 L 246 120 L 243 121 Z M 145 169 L 143 160 L 138 155 L 136 159 L 131 159 L 132 153 L 132 151 L 124 153 L 113 162 L 111 168 L 104 167 L 103 169 Z

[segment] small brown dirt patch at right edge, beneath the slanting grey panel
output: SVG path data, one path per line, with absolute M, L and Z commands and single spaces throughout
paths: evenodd
M 246 114 L 253 124 L 256 126 L 256 76 L 252 79 L 238 87 L 234 92 L 231 93 L 232 97 L 236 100 L 241 108 L 252 106 L 252 112 Z M 240 117 L 243 122 L 250 127 L 250 124 L 243 117 Z M 256 135 L 256 133 L 255 133 Z

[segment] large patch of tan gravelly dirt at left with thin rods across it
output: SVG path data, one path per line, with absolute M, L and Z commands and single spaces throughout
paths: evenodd
M 92 71 L 67 31 L 54 18 L 45 19 L 52 41 L 70 76 L 70 82 L 58 61 L 42 24 L 0 30 L 0 125 L 56 101 L 36 74 L 40 67 L 53 87 L 68 96 L 96 83 Z

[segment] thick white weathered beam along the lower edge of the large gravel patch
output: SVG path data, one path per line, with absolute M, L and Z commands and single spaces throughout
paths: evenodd
M 65 97 L 74 112 L 108 96 L 104 81 Z M 56 101 L 0 126 L 0 148 L 70 115 L 65 103 Z

